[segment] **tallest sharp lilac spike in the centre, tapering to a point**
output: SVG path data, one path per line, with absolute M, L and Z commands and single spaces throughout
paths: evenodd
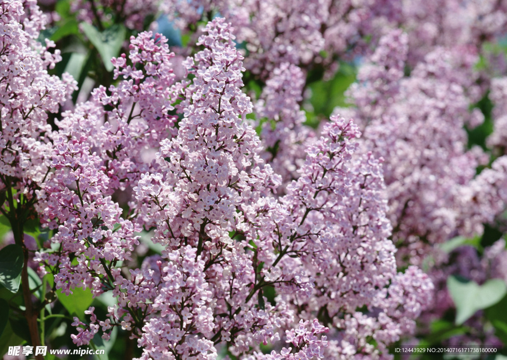
M 162 141 L 157 154 L 161 173 L 144 175 L 134 188 L 142 213 L 151 214 L 145 225 L 156 226 L 153 241 L 165 246 L 162 258 L 171 260 L 171 254 L 187 244 L 193 257 L 201 259 L 198 260 L 201 276 L 207 270 L 209 285 L 203 287 L 209 288 L 206 298 L 189 298 L 185 308 L 178 305 L 173 309 L 189 318 L 187 325 L 170 317 L 164 320 L 167 334 L 179 334 L 182 341 L 188 342 L 185 348 L 170 351 L 173 354 L 193 356 L 205 351 L 209 354 L 206 358 L 214 358 L 213 342 L 220 342 L 222 337 L 234 336 L 236 342 L 240 341 L 241 351 L 245 351 L 248 345 L 258 346 L 254 338 L 266 337 L 262 334 L 267 331 L 270 337 L 274 336 L 269 306 L 266 310 L 251 308 L 257 300 L 248 296 L 248 283 L 253 280 L 253 253 L 246 254 L 246 244 L 234 240 L 235 236 L 255 230 L 256 203 L 261 201 L 266 189 L 276 186 L 278 179 L 272 175 L 269 165 L 260 169 L 259 139 L 244 121 L 252 106 L 240 91 L 242 56 L 234 48 L 231 30 L 223 19 L 208 24 L 207 34 L 198 42 L 204 50 L 185 62 L 195 78 L 177 105 L 185 115 L 179 123 L 178 134 Z M 232 238 L 230 232 L 234 232 Z M 196 303 L 202 300 L 201 305 Z M 160 298 L 153 308 L 154 316 L 164 319 L 166 311 L 157 315 L 160 308 L 157 304 L 162 302 L 167 301 Z M 197 312 L 192 310 L 196 306 Z M 230 311 L 234 312 L 234 318 L 216 316 Z M 203 326 L 207 324 L 207 330 L 196 329 L 196 321 Z M 154 318 L 143 327 L 139 344 L 151 343 L 155 347 L 146 347 L 142 358 L 154 356 L 157 346 L 165 346 L 165 340 L 157 335 L 160 324 Z M 192 335 L 197 333 L 208 340 Z

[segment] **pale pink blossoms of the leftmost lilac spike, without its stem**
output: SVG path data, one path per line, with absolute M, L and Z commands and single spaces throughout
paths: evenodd
M 76 83 L 66 73 L 63 80 L 48 74 L 61 56 L 50 52 L 53 42 L 37 41 L 46 19 L 37 2 L 3 2 L 0 14 L 0 188 L 10 183 L 32 201 L 51 176 L 48 113 L 58 112 Z

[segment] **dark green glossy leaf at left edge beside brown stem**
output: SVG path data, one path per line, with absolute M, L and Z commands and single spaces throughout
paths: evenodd
M 21 282 L 23 269 L 23 249 L 16 244 L 7 245 L 0 250 L 0 284 L 11 293 L 16 293 Z

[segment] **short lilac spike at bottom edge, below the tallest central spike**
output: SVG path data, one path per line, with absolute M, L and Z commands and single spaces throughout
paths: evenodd
M 153 304 L 159 316 L 142 328 L 139 345 L 145 350 L 141 358 L 216 358 L 212 341 L 189 335 L 209 337 L 214 328 L 212 292 L 204 278 L 204 261 L 200 256 L 196 259 L 196 251 L 187 245 L 167 254 L 170 262 L 162 269 L 163 283 Z

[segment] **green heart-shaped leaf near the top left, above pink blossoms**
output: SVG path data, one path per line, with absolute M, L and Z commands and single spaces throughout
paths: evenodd
M 81 28 L 100 54 L 106 70 L 112 71 L 114 66 L 111 63 L 111 59 L 120 54 L 120 50 L 127 35 L 125 26 L 115 24 L 100 32 L 93 25 L 82 22 Z

